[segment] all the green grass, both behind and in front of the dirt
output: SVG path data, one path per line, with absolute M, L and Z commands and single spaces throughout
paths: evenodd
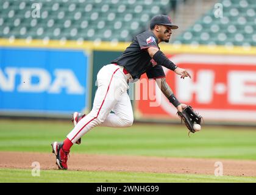
M 72 127 L 63 121 L 0 120 L 0 151 L 51 152 L 49 144 L 62 141 Z M 191 137 L 187 133 L 185 126 L 96 127 L 73 152 L 256 160 L 253 129 L 204 127 Z M 32 177 L 25 169 L 0 169 L 0 182 L 56 182 L 60 175 L 57 182 L 256 182 L 256 177 L 100 171 L 41 171 L 40 177 Z

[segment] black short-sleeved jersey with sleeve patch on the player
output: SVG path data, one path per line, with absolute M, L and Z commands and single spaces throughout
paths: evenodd
M 146 73 L 149 79 L 165 77 L 162 66 L 157 65 L 146 50 L 149 47 L 160 49 L 154 33 L 145 31 L 137 35 L 123 54 L 111 63 L 124 66 L 134 80 L 140 79 L 143 73 Z

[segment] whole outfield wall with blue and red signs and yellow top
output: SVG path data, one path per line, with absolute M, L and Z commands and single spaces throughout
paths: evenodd
M 88 112 L 98 70 L 128 45 L 0 40 L 0 114 L 69 117 L 74 111 Z M 183 80 L 165 69 L 166 80 L 205 123 L 256 124 L 256 48 L 160 46 L 190 71 L 192 79 Z M 135 119 L 177 122 L 176 109 L 152 86 L 145 75 L 130 84 Z

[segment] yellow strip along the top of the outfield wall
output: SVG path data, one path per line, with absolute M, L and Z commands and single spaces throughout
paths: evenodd
M 129 46 L 129 42 L 94 42 L 94 41 L 61 41 L 61 40 L 24 40 L 24 39 L 1 39 L 0 46 L 2 47 L 22 47 L 22 48 L 60 48 L 60 49 L 90 49 L 96 51 L 124 51 Z M 168 54 L 188 53 L 188 54 L 232 54 L 232 55 L 256 55 L 256 47 L 243 46 L 191 46 L 177 44 L 159 44 L 161 50 Z

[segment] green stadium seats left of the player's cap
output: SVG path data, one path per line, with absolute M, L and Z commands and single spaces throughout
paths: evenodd
M 152 16 L 171 9 L 161 0 L 4 0 L 0 37 L 51 40 L 130 41 Z M 32 4 L 40 4 L 33 18 Z

